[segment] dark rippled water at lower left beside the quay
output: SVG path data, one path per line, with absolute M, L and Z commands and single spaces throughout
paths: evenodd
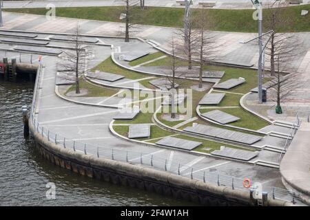
M 195 205 L 82 177 L 41 159 L 33 140 L 23 139 L 21 106 L 31 103 L 32 88 L 0 80 L 0 206 Z M 56 199 L 45 197 L 48 182 L 56 184 Z

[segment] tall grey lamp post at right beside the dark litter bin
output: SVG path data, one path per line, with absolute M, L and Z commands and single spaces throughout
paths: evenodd
M 258 5 L 258 103 L 262 104 L 262 3 Z

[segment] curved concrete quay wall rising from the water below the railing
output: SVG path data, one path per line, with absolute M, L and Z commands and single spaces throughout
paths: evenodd
M 112 159 L 85 155 L 63 148 L 48 141 L 36 131 L 30 120 L 29 126 L 35 145 L 43 158 L 56 166 L 91 178 L 110 181 L 113 184 L 130 186 L 156 192 L 161 195 L 186 199 L 207 206 L 255 206 L 256 201 L 248 191 L 232 190 L 226 186 L 204 183 L 196 179 L 137 166 Z M 265 206 L 291 206 L 287 201 L 267 199 Z

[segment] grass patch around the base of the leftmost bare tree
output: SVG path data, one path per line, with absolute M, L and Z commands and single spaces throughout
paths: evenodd
M 65 92 L 67 94 L 69 91 L 75 91 L 76 85 L 72 85 L 69 89 Z M 81 79 L 80 80 L 80 89 L 87 89 L 88 94 L 85 97 L 100 97 L 100 96 L 113 96 L 118 92 L 117 89 L 111 89 L 106 87 L 99 87 L 96 85 L 92 85 L 87 81 Z M 80 96 L 83 97 L 83 96 Z

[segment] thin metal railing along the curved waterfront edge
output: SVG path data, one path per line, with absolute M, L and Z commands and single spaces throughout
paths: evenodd
M 35 117 L 35 109 L 37 108 L 37 99 L 39 96 L 39 85 L 41 82 L 42 65 L 39 65 L 36 83 L 34 85 L 34 95 L 32 100 L 32 109 L 30 111 L 30 122 L 34 125 L 37 133 L 45 137 L 49 142 L 54 142 L 63 148 L 68 148 L 77 153 L 83 153 L 85 155 L 92 155 L 98 158 L 112 159 L 121 162 L 128 162 L 131 164 L 142 164 L 143 166 L 155 168 L 157 170 L 164 170 L 169 173 L 174 173 L 182 177 L 190 179 L 197 179 L 203 182 L 216 184 L 217 186 L 227 186 L 232 190 L 245 190 L 249 191 L 251 188 L 245 188 L 243 186 L 244 179 L 223 175 L 208 170 L 194 168 L 192 166 L 186 166 L 177 160 L 169 160 L 163 157 L 156 156 L 152 153 L 141 153 L 134 151 L 124 151 L 116 148 L 105 148 L 103 146 L 96 146 L 94 144 L 87 144 L 81 141 L 70 139 L 59 133 L 54 133 L 50 129 L 40 126 Z M 293 201 L 298 199 L 296 195 L 292 195 L 287 190 L 282 190 L 282 194 L 278 193 L 278 188 L 273 188 L 273 199 L 279 199 L 282 197 L 285 201 Z M 284 193 L 286 192 L 286 193 Z M 269 193 L 270 194 L 270 193 Z

